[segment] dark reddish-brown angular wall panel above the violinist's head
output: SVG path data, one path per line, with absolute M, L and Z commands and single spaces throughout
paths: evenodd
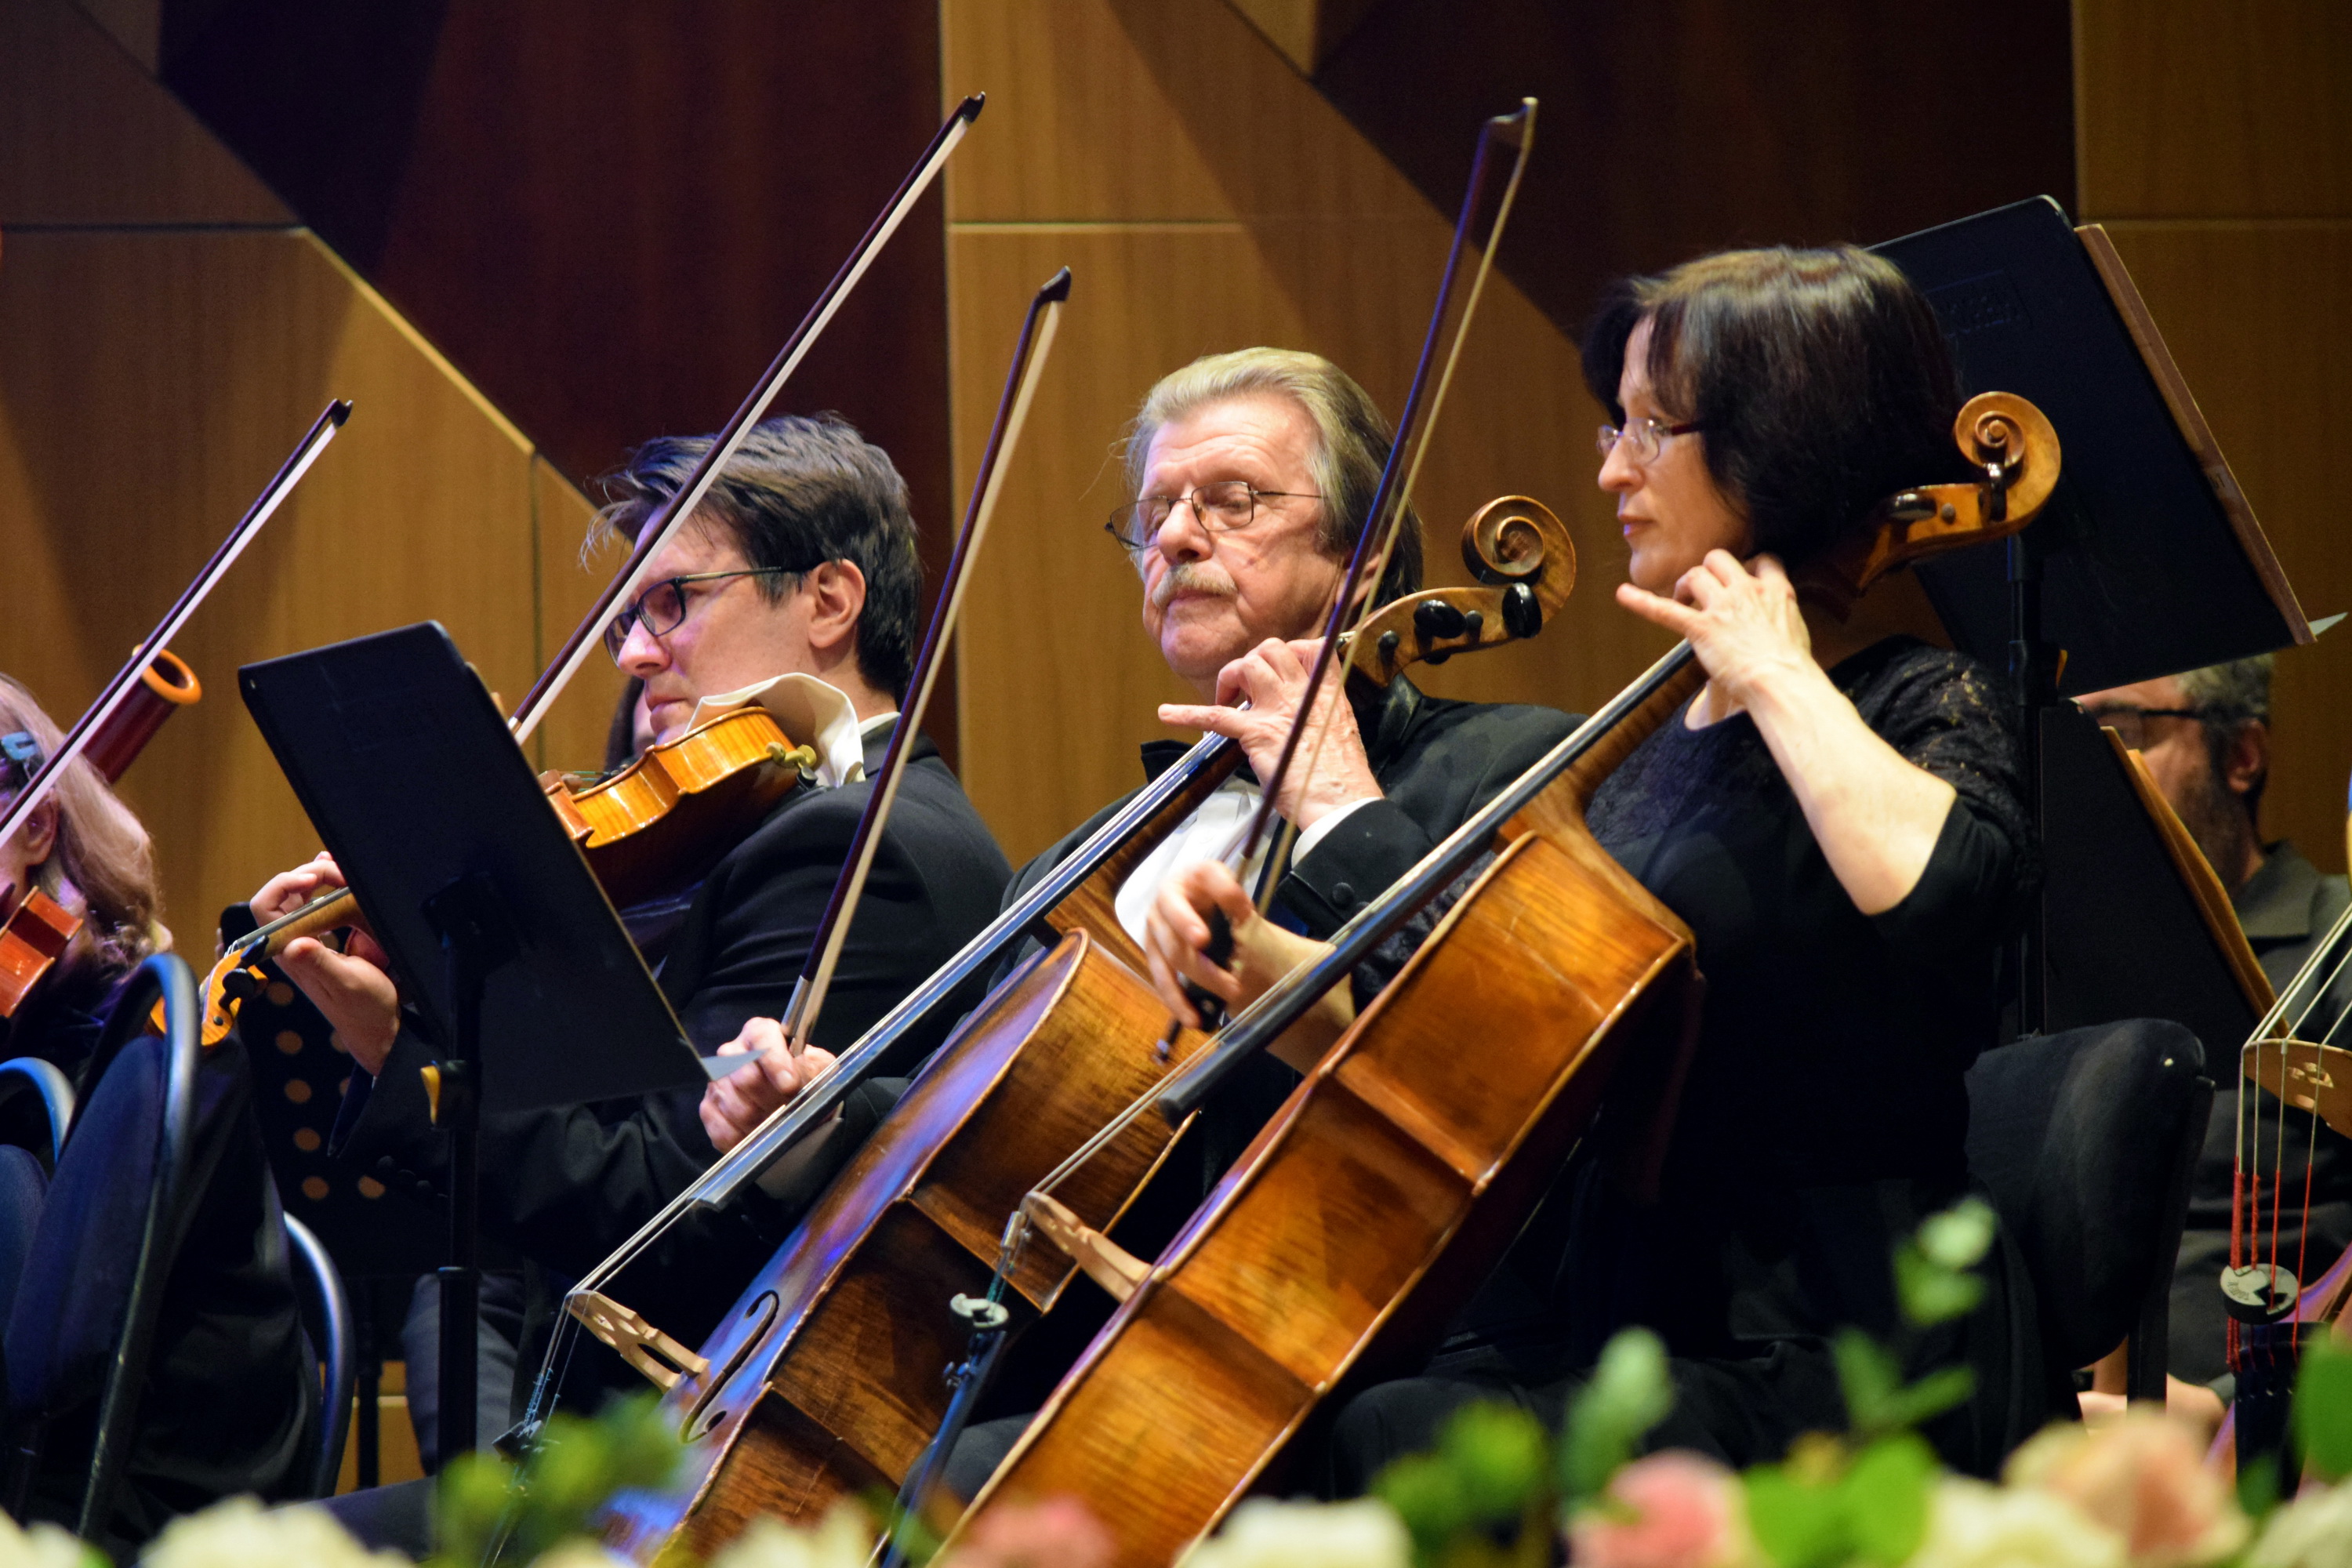
M 169 0 L 162 78 L 586 484 L 734 414 L 938 125 L 938 5 Z M 891 454 L 934 581 L 941 223 L 934 195 L 776 404 Z

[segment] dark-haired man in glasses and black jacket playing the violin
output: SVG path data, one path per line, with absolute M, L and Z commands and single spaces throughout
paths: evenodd
M 637 449 L 607 480 L 616 498 L 597 529 L 635 536 L 706 449 L 701 437 Z M 710 1166 L 713 1133 L 727 1126 L 713 1107 L 797 1093 L 833 1065 L 828 1046 L 856 1039 L 995 917 L 1009 875 L 1004 856 L 938 750 L 917 741 L 816 1041 L 800 1056 L 781 1048 L 774 1018 L 790 1001 L 913 670 L 920 590 L 915 522 L 889 456 L 833 416 L 771 418 L 753 430 L 694 524 L 656 557 L 649 585 L 614 618 L 604 642 L 637 682 L 637 733 L 677 741 L 696 715 L 710 719 L 757 701 L 795 743 L 814 748 L 814 769 L 804 771 L 816 788 L 793 790 L 750 823 L 708 875 L 628 912 L 696 1048 L 748 1051 L 753 1060 L 713 1084 L 706 1100 L 703 1091 L 675 1091 L 485 1117 L 485 1234 L 557 1274 L 583 1274 Z M 270 919 L 336 882 L 325 860 L 287 872 L 254 896 L 254 914 Z M 280 966 L 360 1065 L 332 1150 L 430 1201 L 447 1164 L 419 1074 L 433 1053 L 414 1027 L 402 1027 L 379 957 L 355 933 L 346 952 L 292 943 Z M 953 1016 L 943 1011 L 936 1030 L 908 1041 L 908 1060 L 889 1067 L 920 1060 Z M 633 1269 L 621 1286 L 626 1300 L 663 1331 L 699 1342 L 788 1232 L 802 1199 L 788 1190 L 795 1173 L 814 1182 L 833 1164 L 828 1147 L 854 1147 L 877 1105 L 887 1098 L 854 1100 L 814 1140 L 826 1147 L 776 1178 L 769 1199 L 682 1227 L 652 1267 Z M 496 1305 L 494 1291 L 485 1305 Z M 513 1333 L 520 1305 L 508 1300 L 506 1312 Z M 421 1342 L 433 1324 L 430 1291 L 421 1288 L 407 1335 L 412 1408 L 419 1375 L 435 1366 Z M 501 1326 L 496 1312 L 487 1326 Z M 485 1439 L 508 1425 L 510 1387 L 508 1342 L 506 1366 L 485 1366 Z M 421 1420 L 419 1436 L 428 1434 Z

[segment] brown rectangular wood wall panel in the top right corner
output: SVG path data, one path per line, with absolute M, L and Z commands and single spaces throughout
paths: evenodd
M 2352 219 L 2352 5 L 2077 0 L 2082 209 Z

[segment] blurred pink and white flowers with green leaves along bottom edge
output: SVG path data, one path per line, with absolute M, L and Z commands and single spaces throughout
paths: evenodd
M 1896 1253 L 1905 1333 L 1971 1312 L 1994 1237 L 1983 1204 L 1931 1218 Z M 2281 1502 L 2251 1467 L 2230 1488 L 2197 1434 L 2157 1410 L 2053 1425 L 2011 1455 L 2002 1486 L 1945 1474 L 1919 1425 L 1969 1396 L 1966 1368 L 1903 1380 L 1903 1354 L 1837 1338 L 1844 1434 L 1809 1434 L 1745 1472 L 1682 1450 L 1642 1455 L 1672 1408 L 1665 1347 L 1630 1328 L 1602 1352 L 1555 1436 L 1529 1413 L 1470 1406 L 1435 1453 L 1390 1465 L 1355 1502 L 1244 1502 L 1185 1568 L 2352 1568 L 2352 1342 L 2314 1338 L 2296 1385 L 2310 1481 Z M 619 1490 L 656 1486 L 677 1443 L 652 1399 L 597 1420 L 555 1418 L 527 1465 L 466 1455 L 440 1486 L 440 1568 L 501 1561 L 602 1568 L 590 1521 Z M 708 1568 L 866 1568 L 887 1507 L 842 1505 L 816 1526 L 755 1521 Z M 997 1507 L 950 1554 L 906 1530 L 929 1568 L 1108 1568 L 1112 1537 L 1070 1497 Z M 99 1568 L 54 1526 L 0 1519 L 0 1568 Z M 379 1568 L 320 1509 L 249 1497 L 172 1523 L 151 1568 L 303 1563 Z M 666 1559 L 668 1561 L 668 1559 Z

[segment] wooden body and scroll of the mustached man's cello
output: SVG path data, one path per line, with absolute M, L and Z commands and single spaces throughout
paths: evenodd
M 1541 623 L 1573 585 L 1566 527 L 1526 498 L 1470 520 L 1463 552 L 1477 562 L 1482 550 L 1505 550 L 1515 571 L 1491 590 L 1486 635 L 1472 625 L 1454 649 L 1508 642 L 1515 588 L 1534 592 Z M 1397 625 L 1409 637 L 1418 602 L 1463 592 L 1479 590 L 1399 599 L 1359 635 L 1367 646 Z M 1517 618 L 1529 625 L 1524 611 Z M 1423 642 L 1388 675 L 1423 656 Z M 755 1514 L 814 1519 L 840 1497 L 908 1476 L 948 1406 L 941 1371 L 964 1352 L 967 1328 L 948 1300 L 988 1288 L 1021 1197 L 1202 1044 L 1183 1032 L 1171 1051 L 1160 1048 L 1167 1006 L 1138 976 L 1141 954 L 1112 898 L 1237 764 L 1240 748 L 1228 745 L 1040 914 L 1061 940 L 941 1046 L 699 1354 L 670 1356 L 680 1371 L 663 1410 L 687 1462 L 668 1490 L 612 1505 L 604 1537 L 614 1549 L 637 1561 L 673 1542 L 708 1554 Z M 1061 1187 L 1063 1201 L 1084 1225 L 1110 1229 L 1171 1143 L 1157 1119 L 1134 1121 Z M 1004 1291 L 1011 1326 L 1049 1312 L 1075 1272 L 1054 1248 L 1023 1248 Z

